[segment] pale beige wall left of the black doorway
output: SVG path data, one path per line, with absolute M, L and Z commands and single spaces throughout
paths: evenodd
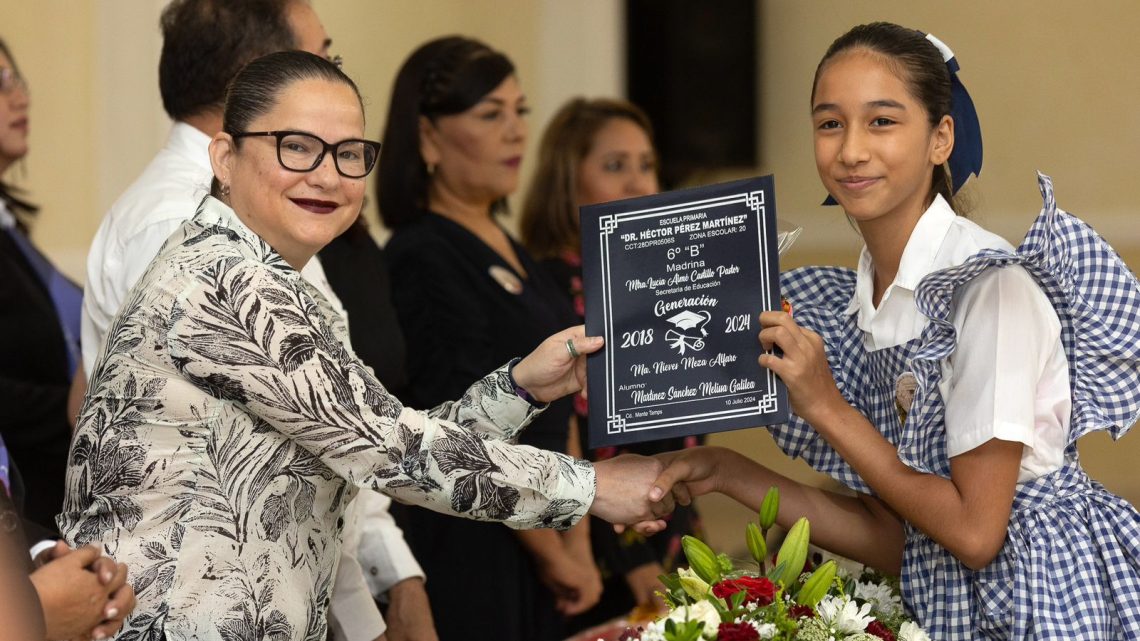
M 360 86 L 376 138 L 400 64 L 441 35 L 480 38 L 512 57 L 534 107 L 531 148 L 564 100 L 624 87 L 617 1 L 310 1 Z M 103 213 L 165 141 L 157 82 L 165 3 L 0 0 L 0 36 L 32 87 L 32 151 L 6 179 L 42 205 L 34 238 L 80 281 Z M 366 216 L 376 220 L 370 206 Z

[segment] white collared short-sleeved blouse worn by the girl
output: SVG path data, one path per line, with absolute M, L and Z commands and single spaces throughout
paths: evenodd
M 929 320 L 914 302 L 919 282 L 984 249 L 1012 251 L 1002 237 L 955 214 L 936 196 L 876 307 L 874 265 L 864 246 L 847 313 L 856 315 L 866 349 L 919 338 Z M 1021 267 L 990 269 L 958 294 L 952 322 L 958 348 L 943 360 L 938 383 L 946 404 L 947 454 L 964 454 L 997 438 L 1025 445 L 1019 484 L 1060 469 L 1072 397 L 1060 322 L 1044 292 Z

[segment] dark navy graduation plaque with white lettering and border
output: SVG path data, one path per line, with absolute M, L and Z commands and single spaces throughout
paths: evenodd
M 584 206 L 589 445 L 788 420 L 757 363 L 757 316 L 780 309 L 771 177 Z

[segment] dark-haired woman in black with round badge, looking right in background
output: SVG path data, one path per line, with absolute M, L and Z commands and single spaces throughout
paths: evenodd
M 519 186 L 528 112 L 514 65 L 475 40 L 427 42 L 397 75 L 378 201 L 394 232 L 385 251 L 414 404 L 454 396 L 475 372 L 575 323 L 557 285 L 496 219 Z M 570 399 L 551 404 L 521 443 L 567 452 L 570 415 Z M 563 615 L 601 594 L 585 524 L 564 536 L 515 534 L 407 510 L 402 525 L 440 639 L 561 639 Z M 496 609 L 512 615 L 486 616 Z

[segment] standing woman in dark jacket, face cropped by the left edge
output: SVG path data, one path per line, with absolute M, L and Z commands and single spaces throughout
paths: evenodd
M 30 94 L 0 41 L 0 176 L 27 155 Z M 83 291 L 32 244 L 38 208 L 0 181 L 0 435 L 25 472 L 24 516 L 55 533 L 71 427 L 67 393 L 79 366 Z

